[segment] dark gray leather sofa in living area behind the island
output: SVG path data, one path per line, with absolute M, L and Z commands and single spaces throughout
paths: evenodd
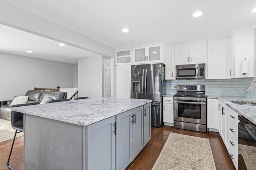
M 28 96 L 27 103 L 42 102 L 44 98 L 51 98 L 52 100 L 56 99 L 66 99 L 67 92 L 56 92 L 56 91 L 39 91 L 39 90 L 28 90 L 25 94 Z M 2 102 L 0 107 L 0 118 L 11 120 L 11 107 L 10 104 L 12 100 Z

